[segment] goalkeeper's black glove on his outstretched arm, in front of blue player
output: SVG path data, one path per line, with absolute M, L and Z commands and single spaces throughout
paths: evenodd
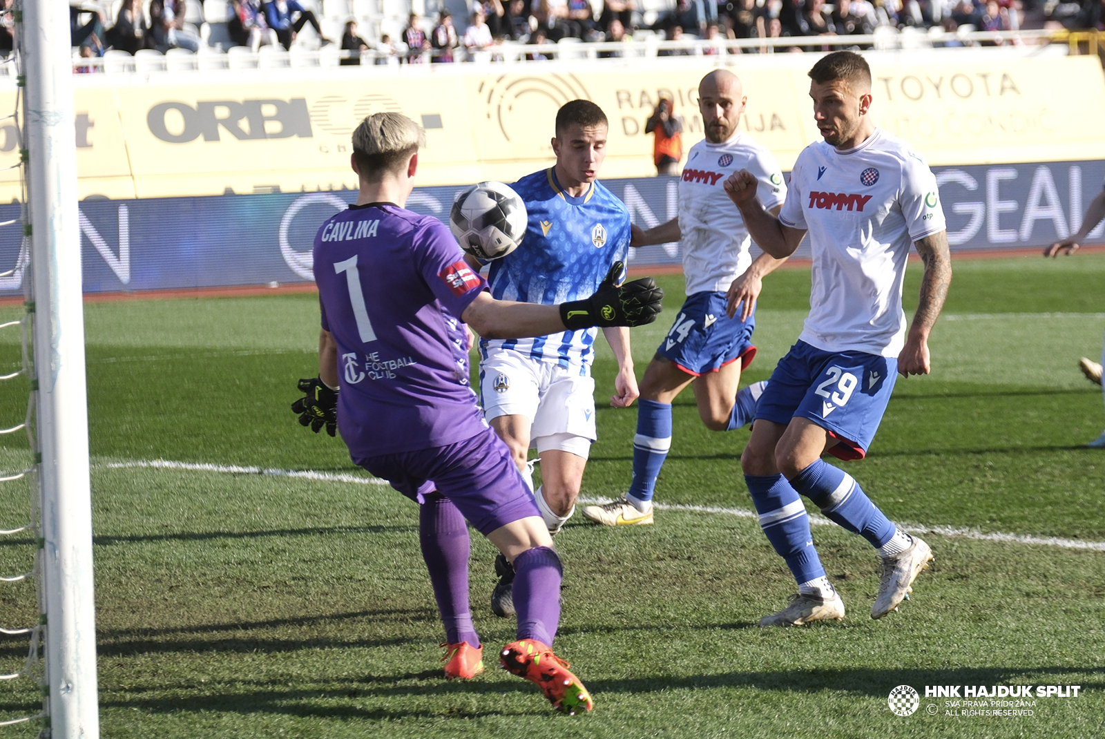
M 625 265 L 614 262 L 591 297 L 560 304 L 560 319 L 570 330 L 591 326 L 644 326 L 663 310 L 664 291 L 652 277 L 625 279 Z

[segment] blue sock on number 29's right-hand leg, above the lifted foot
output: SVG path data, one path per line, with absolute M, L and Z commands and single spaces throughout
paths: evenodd
M 897 530 L 851 475 L 824 460 L 798 473 L 790 484 L 831 520 L 859 534 L 873 547 L 882 547 Z

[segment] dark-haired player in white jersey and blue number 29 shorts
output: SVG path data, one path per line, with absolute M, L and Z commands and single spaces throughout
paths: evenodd
M 761 626 L 844 616 L 799 493 L 878 549 L 872 619 L 897 610 L 933 558 L 928 545 L 898 529 L 821 456 L 863 457 L 896 373 L 929 372 L 928 335 L 951 282 L 936 178 L 908 145 L 875 127 L 871 70 L 862 56 L 828 54 L 809 76 L 824 141 L 798 156 L 778 218 L 756 200 L 759 180 L 751 172 L 737 172 L 725 186 L 764 251 L 788 256 L 809 232 L 813 252 L 810 315 L 771 374 L 740 458 L 760 527 L 798 581 L 790 605 Z M 911 242 L 925 273 L 907 335 L 902 281 Z

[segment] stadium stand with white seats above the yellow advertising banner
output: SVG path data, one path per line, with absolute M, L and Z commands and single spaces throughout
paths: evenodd
M 950 46 L 998 46 L 1003 44 L 1034 44 L 1046 40 L 1061 40 L 1075 43 L 1070 38 L 1069 31 L 1078 31 L 1083 35 L 1078 36 L 1083 43 L 1096 47 L 1097 52 L 1105 54 L 1105 19 L 1098 10 L 1102 3 L 1099 0 L 1082 0 L 1081 2 L 1048 2 L 1041 4 L 1038 0 L 880 0 L 872 4 L 867 0 L 852 0 L 849 4 L 851 17 L 863 20 L 864 28 L 870 27 L 870 34 L 856 34 L 855 31 L 844 31 L 843 27 L 838 30 L 833 27 L 835 6 L 821 6 L 819 9 L 810 10 L 807 6 L 812 6 L 812 0 L 755 0 L 750 11 L 755 17 L 767 19 L 761 23 L 764 35 L 769 38 L 757 38 L 756 29 L 753 29 L 754 38 L 737 38 L 734 27 L 738 22 L 737 18 L 743 12 L 744 3 L 734 0 L 717 2 L 717 29 L 707 28 L 705 24 L 695 25 L 695 19 L 711 17 L 709 13 L 702 12 L 703 0 L 618 0 L 608 3 L 606 0 L 591 0 L 592 18 L 594 20 L 582 23 L 557 23 L 556 19 L 549 17 L 547 21 L 549 28 L 546 31 L 548 43 L 541 47 L 539 57 L 551 57 L 560 60 L 596 60 L 603 57 L 651 57 L 659 55 L 699 55 L 699 54 L 736 54 L 736 53 L 771 53 L 775 51 L 829 51 L 839 47 L 859 47 L 875 50 L 904 50 L 912 51 L 918 49 L 950 47 Z M 709 3 L 714 0 L 705 0 Z M 349 59 L 356 52 L 341 51 L 340 49 L 329 49 L 319 35 L 307 24 L 296 35 L 291 49 L 283 50 L 262 46 L 257 53 L 251 53 L 249 47 L 236 45 L 231 36 L 230 20 L 233 18 L 233 10 L 227 0 L 187 0 L 185 3 L 185 27 L 186 30 L 193 31 L 202 41 L 199 53 L 186 60 L 181 50 L 172 51 L 172 59 L 155 60 L 152 53 L 161 54 L 161 50 L 152 50 L 151 43 L 147 43 L 147 49 L 138 50 L 128 60 L 123 60 L 120 54 L 130 56 L 127 52 L 120 52 L 112 47 L 112 27 L 118 18 L 123 0 L 107 0 L 106 2 L 74 4 L 74 23 L 77 27 L 90 23 L 99 17 L 105 27 L 106 41 L 108 43 L 107 53 L 99 59 L 82 59 L 81 49 L 74 47 L 74 68 L 76 71 L 99 72 L 110 74 L 138 73 L 149 74 L 151 72 L 167 71 L 172 74 L 187 73 L 192 70 L 243 70 L 263 68 L 278 70 L 284 67 L 304 66 L 332 66 L 336 65 L 340 59 Z M 407 18 L 413 10 L 421 14 L 423 30 L 429 31 L 434 24 L 436 11 L 449 6 L 454 13 L 459 33 L 463 33 L 466 20 L 462 20 L 467 14 L 467 4 L 455 0 L 444 0 L 427 2 L 427 0 L 303 0 L 301 4 L 304 9 L 312 11 L 319 21 L 323 34 L 330 40 L 340 40 L 346 21 L 356 20 L 358 33 L 366 40 L 369 51 L 364 52 L 362 62 L 372 65 L 372 62 L 381 56 L 391 57 L 391 62 L 408 62 L 408 49 L 400 41 L 403 29 L 407 25 Z M 517 8 L 517 3 L 501 3 L 507 9 Z M 464 59 L 464 53 L 459 50 L 457 61 L 484 62 L 516 62 L 532 57 L 533 45 L 529 34 L 519 31 L 527 25 L 530 34 L 538 29 L 538 22 L 532 14 L 538 12 L 536 0 L 526 0 L 520 4 L 527 19 L 519 15 L 518 22 L 513 19 L 499 19 L 495 24 L 498 30 L 496 43 L 490 53 L 482 52 L 473 59 Z M 453 7 L 455 6 L 455 8 Z M 527 6 L 529 8 L 527 9 Z M 491 3 L 488 8 L 493 7 Z M 610 7 L 615 8 L 611 10 Z M 788 10 L 788 8 L 790 10 Z M 797 11 L 793 9 L 797 8 Z M 149 22 L 150 0 L 144 0 L 143 12 Z M 822 31 L 820 35 L 812 35 L 811 28 L 807 24 L 808 35 L 787 35 L 788 31 L 779 32 L 780 28 L 789 28 L 792 22 L 788 20 L 786 27 L 782 23 L 774 22 L 780 18 L 789 19 L 788 13 L 798 12 L 818 13 L 817 24 L 813 28 L 824 28 L 820 19 L 828 21 L 828 32 Z M 538 14 L 540 14 L 538 12 Z M 839 19 L 839 15 L 835 15 Z M 849 15 L 845 13 L 845 17 Z M 622 33 L 617 33 L 620 41 L 610 41 L 604 33 L 607 29 L 600 25 L 602 19 L 631 18 L 632 25 L 625 29 L 624 38 Z M 528 20 L 528 23 L 526 22 Z M 609 22 L 609 21 L 608 21 Z M 799 22 L 800 21 L 794 21 Z M 588 25 L 590 23 L 590 25 Z M 748 28 L 746 18 L 740 19 L 740 23 Z M 713 27 L 714 23 L 711 23 Z M 675 27 L 682 29 L 678 32 L 678 41 L 665 41 L 671 38 L 671 30 Z M 609 28 L 609 25 L 608 25 Z M 851 25 L 849 27 L 851 29 Z M 566 29 L 575 29 L 565 34 Z M 771 29 L 770 31 L 768 29 Z M 778 35 L 769 35 L 776 34 Z M 844 35 L 849 33 L 851 35 Z M 382 35 L 390 38 L 390 44 L 381 45 Z M 1086 35 L 1088 34 L 1088 35 Z M 707 40 L 707 35 L 714 36 Z M 817 39 L 817 43 L 801 43 L 799 40 Z M 86 41 L 82 43 L 87 43 Z M 152 52 L 152 53 L 149 53 Z M 398 54 L 398 56 L 397 56 Z M 224 56 L 220 59 L 220 56 Z M 419 61 L 419 55 L 411 55 L 414 62 Z M 391 65 L 389 65 L 391 66 Z

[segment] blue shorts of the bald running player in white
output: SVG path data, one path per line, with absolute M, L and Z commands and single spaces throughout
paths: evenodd
M 745 369 L 756 357 L 751 345 L 755 328 L 755 314 L 748 320 L 726 315 L 725 293 L 695 293 L 683 304 L 656 353 L 695 377 L 716 372 L 738 359 Z

